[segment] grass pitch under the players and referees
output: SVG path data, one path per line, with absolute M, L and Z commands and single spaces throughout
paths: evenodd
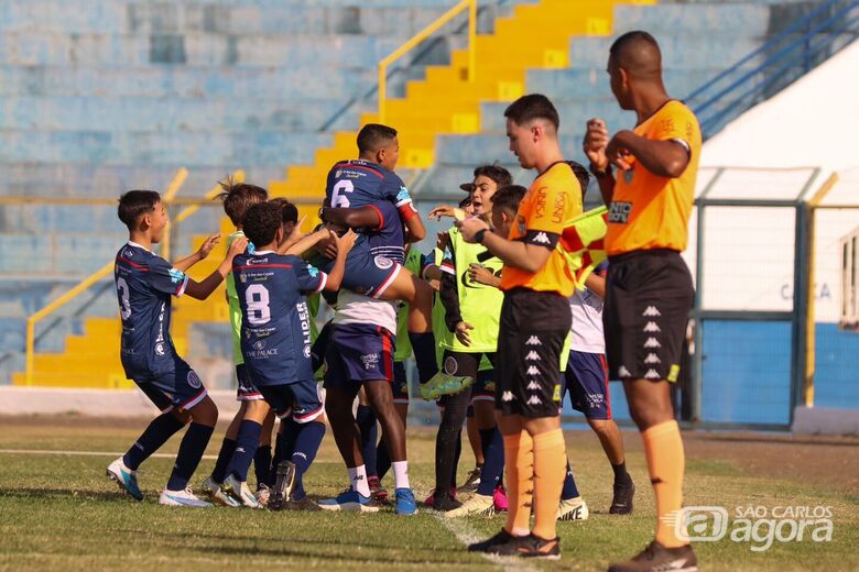
M 587 431 L 567 432 L 591 517 L 559 525 L 561 561 L 522 562 L 491 561 L 465 550 L 464 542 L 493 534 L 503 524 L 500 516 L 446 521 L 428 509 L 405 518 L 392 513 L 161 507 L 157 490 L 172 466 L 168 458 L 144 463 L 140 483 L 146 498 L 135 503 L 120 495 L 104 471 L 113 457 L 109 453 L 124 451 L 144 424 L 70 416 L 0 418 L 0 569 L 355 570 L 370 564 L 385 570 L 605 570 L 652 537 L 653 495 L 634 432 L 624 432 L 628 465 L 639 488 L 634 514 L 607 514 L 611 471 L 599 443 Z M 432 484 L 434 433 L 410 431 L 412 483 L 423 495 Z M 174 452 L 177 443 L 175 438 L 163 452 Z M 219 443 L 220 432 L 207 453 L 215 454 Z M 698 542 L 702 570 L 859 570 L 859 440 L 688 433 L 686 443 L 686 505 L 724 506 L 731 517 L 736 506 L 819 505 L 831 507 L 834 520 L 830 542 L 776 541 L 763 552 L 727 538 Z M 204 460 L 192 484 L 199 485 L 211 465 Z M 460 476 L 470 466 L 470 454 L 464 453 Z M 328 496 L 345 480 L 328 435 L 305 486 L 313 496 Z

